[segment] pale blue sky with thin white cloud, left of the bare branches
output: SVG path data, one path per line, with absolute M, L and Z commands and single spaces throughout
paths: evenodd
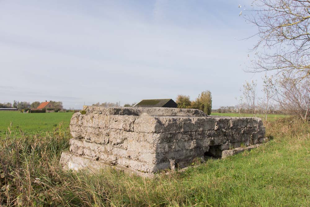
M 0 0 L 0 102 L 194 100 L 236 105 L 257 28 L 251 1 Z M 238 5 L 241 8 L 238 8 Z

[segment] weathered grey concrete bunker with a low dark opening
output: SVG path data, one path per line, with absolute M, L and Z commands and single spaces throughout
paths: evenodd
M 94 169 L 105 164 L 144 173 L 183 168 L 203 155 L 222 157 L 223 151 L 241 143 L 263 142 L 265 135 L 259 118 L 155 107 L 85 106 L 83 114 L 73 115 L 70 130 L 70 156 L 74 156 L 62 154 L 65 168 Z

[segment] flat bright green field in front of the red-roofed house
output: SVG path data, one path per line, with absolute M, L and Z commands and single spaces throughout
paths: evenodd
M 0 111 L 0 136 L 9 133 L 8 127 L 14 133 L 22 129 L 24 133 L 45 133 L 52 131 L 62 122 L 69 127 L 73 113 L 20 113 L 19 111 Z

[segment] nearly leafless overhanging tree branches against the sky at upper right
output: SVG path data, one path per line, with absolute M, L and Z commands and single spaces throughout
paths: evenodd
M 310 0 L 255 0 L 252 6 L 244 17 L 258 27 L 259 41 L 249 71 L 276 70 L 290 79 L 309 77 Z

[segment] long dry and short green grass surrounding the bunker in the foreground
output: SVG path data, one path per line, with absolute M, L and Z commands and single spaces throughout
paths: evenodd
M 112 169 L 64 172 L 69 131 L 7 136 L 0 143 L 2 206 L 309 206 L 310 123 L 264 122 L 272 140 L 185 172 L 140 178 Z

